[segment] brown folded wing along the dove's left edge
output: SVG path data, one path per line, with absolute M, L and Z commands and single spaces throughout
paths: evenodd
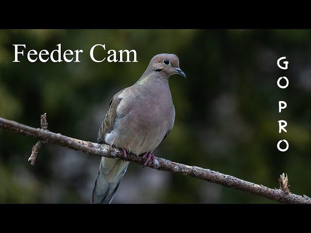
M 104 121 L 101 125 L 101 128 L 98 131 L 97 140 L 99 143 L 105 143 L 105 135 L 106 133 L 110 133 L 113 130 L 114 122 L 117 116 L 117 107 L 121 102 L 121 98 L 118 96 L 125 90 L 126 88 L 119 91 L 117 94 L 113 96 L 110 100 L 109 108 L 104 118 Z

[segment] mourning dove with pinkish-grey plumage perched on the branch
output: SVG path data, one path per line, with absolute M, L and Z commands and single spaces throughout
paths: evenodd
M 121 149 L 124 160 L 102 157 L 91 204 L 111 203 L 129 165 L 129 153 L 145 159 L 143 166 L 154 161 L 153 151 L 174 125 L 175 108 L 169 86 L 169 77 L 174 74 L 186 78 L 178 57 L 157 54 L 136 83 L 111 99 L 97 140 Z

